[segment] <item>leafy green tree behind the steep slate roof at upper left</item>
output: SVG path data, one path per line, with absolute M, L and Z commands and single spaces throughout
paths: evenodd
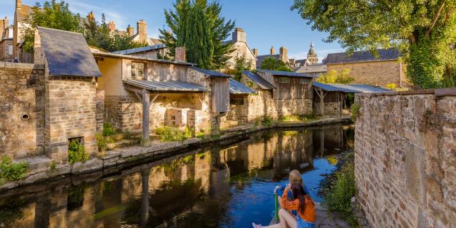
M 82 28 L 79 19 L 79 14 L 73 14 L 68 9 L 68 4 L 65 1 L 60 1 L 59 3 L 56 0 L 45 1 L 43 8 L 41 8 L 39 2 L 36 2 L 32 8 L 32 13 L 26 19 L 30 27 L 26 28 L 22 36 L 24 39 L 23 50 L 33 53 L 35 29 L 38 26 L 81 32 Z

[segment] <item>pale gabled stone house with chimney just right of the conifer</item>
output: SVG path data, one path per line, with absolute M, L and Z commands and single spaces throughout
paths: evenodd
M 247 44 L 247 34 L 242 28 L 235 28 L 232 33 L 232 39 L 230 41 L 225 41 L 227 43 L 232 43 L 234 51 L 229 54 L 231 58 L 227 63 L 227 68 L 234 68 L 235 59 L 237 57 L 244 56 L 252 64 L 252 69 L 257 68 L 257 49 L 250 49 Z

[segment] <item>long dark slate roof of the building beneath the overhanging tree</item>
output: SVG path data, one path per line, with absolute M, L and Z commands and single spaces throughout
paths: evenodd
M 378 49 L 378 58 L 375 58 L 373 54 L 368 51 L 355 51 L 353 56 L 348 56 L 345 52 L 342 53 L 329 53 L 326 56 L 324 63 L 326 64 L 338 64 L 338 63 L 356 63 L 356 62 L 367 62 L 367 61 L 386 61 L 395 60 L 400 56 L 398 49 Z

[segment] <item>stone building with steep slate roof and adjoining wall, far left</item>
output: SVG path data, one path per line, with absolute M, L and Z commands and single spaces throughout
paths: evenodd
M 2 63 L 0 154 L 68 162 L 68 142 L 80 138 L 98 152 L 95 78 L 100 71 L 80 33 L 39 27 L 35 62 Z M 41 157 L 41 158 L 40 158 Z M 45 159 L 46 158 L 46 159 Z

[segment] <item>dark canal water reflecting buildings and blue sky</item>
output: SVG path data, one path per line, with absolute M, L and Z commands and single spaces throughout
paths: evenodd
M 256 133 L 231 145 L 32 185 L 0 195 L 0 227 L 251 227 L 269 224 L 272 191 L 299 170 L 318 202 L 351 126 Z M 108 175 L 108 173 L 110 173 Z

